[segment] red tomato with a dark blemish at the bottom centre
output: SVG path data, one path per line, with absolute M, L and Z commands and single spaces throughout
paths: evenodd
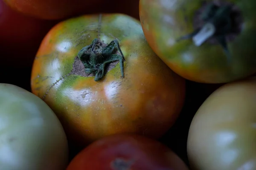
M 82 150 L 67 170 L 189 170 L 165 145 L 137 135 L 112 135 Z

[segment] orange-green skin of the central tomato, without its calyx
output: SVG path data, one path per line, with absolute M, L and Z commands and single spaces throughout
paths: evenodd
M 99 82 L 70 74 L 79 50 L 96 37 L 119 40 L 124 78 L 119 63 Z M 52 28 L 35 57 L 31 86 L 70 139 L 83 144 L 125 132 L 158 138 L 175 122 L 185 95 L 185 80 L 154 54 L 140 22 L 123 14 L 84 15 Z

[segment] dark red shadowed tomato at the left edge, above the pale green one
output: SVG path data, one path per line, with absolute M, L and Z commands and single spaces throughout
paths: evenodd
M 31 67 L 41 41 L 54 24 L 23 16 L 0 0 L 0 66 Z

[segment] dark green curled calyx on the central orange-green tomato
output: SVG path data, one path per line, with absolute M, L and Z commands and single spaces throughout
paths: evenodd
M 119 54 L 113 54 L 117 48 Z M 124 77 L 125 57 L 119 47 L 117 40 L 111 41 L 106 47 L 102 47 L 102 42 L 96 38 L 92 44 L 85 46 L 78 53 L 78 58 L 84 65 L 84 71 L 87 74 L 95 73 L 94 80 L 97 82 L 104 77 L 105 67 L 108 63 L 119 60 L 122 77 Z

